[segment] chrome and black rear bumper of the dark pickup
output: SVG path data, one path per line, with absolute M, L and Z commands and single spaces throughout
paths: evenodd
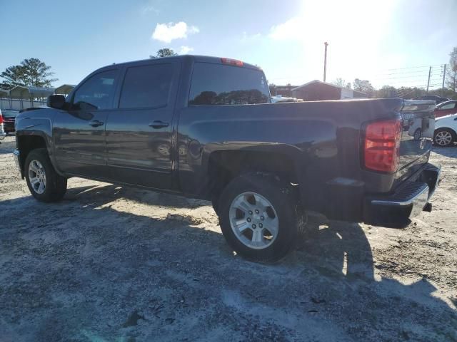
M 438 187 L 441 167 L 426 164 L 416 180 L 403 183 L 391 195 L 367 195 L 363 201 L 363 222 L 384 227 L 402 227 L 424 209 Z

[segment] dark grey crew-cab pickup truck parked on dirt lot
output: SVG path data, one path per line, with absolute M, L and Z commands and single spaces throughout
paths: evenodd
M 66 98 L 19 114 L 14 156 L 43 202 L 64 197 L 69 177 L 210 200 L 237 254 L 274 261 L 307 212 L 391 227 L 431 211 L 434 107 L 271 103 L 257 66 L 155 58 L 100 68 Z M 413 125 L 420 136 L 408 133 Z

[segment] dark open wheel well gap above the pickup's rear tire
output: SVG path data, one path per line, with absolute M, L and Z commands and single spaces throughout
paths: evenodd
M 209 190 L 218 198 L 234 177 L 247 172 L 266 172 L 286 182 L 298 183 L 293 159 L 277 152 L 216 151 L 209 157 Z

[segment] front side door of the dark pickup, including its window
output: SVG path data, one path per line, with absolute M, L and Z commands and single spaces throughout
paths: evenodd
M 119 68 L 110 68 L 89 76 L 72 95 L 71 108 L 55 116 L 55 155 L 61 171 L 108 178 L 105 127 L 114 108 L 118 75 Z

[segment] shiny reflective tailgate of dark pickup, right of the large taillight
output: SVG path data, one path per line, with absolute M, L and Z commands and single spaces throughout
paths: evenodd
M 405 100 L 401 110 L 403 131 L 400 142 L 398 178 L 411 175 L 428 161 L 435 130 L 435 101 Z M 411 170 L 410 170 L 411 169 Z

